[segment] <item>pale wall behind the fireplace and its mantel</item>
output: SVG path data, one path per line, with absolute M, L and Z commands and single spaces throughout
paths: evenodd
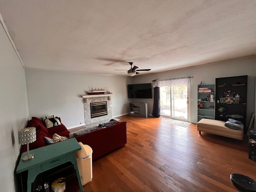
M 28 108 L 30 118 L 58 116 L 67 128 L 84 124 L 82 95 L 91 88 L 108 88 L 112 116 L 128 113 L 126 76 L 92 75 L 70 72 L 26 69 Z

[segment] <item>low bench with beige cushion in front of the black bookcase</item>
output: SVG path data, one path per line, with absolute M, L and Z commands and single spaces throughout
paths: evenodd
M 220 135 L 224 137 L 234 138 L 238 140 L 243 140 L 244 131 L 243 130 L 233 130 L 225 127 L 224 121 L 213 120 L 213 119 L 201 119 L 197 124 L 196 128 L 201 135 L 201 131 Z

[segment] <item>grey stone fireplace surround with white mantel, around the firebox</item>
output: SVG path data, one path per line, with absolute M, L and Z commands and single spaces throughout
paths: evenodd
M 96 124 L 98 122 L 104 122 L 109 121 L 112 118 L 112 105 L 111 105 L 111 96 L 107 95 L 90 95 L 90 96 L 83 96 L 84 98 L 84 120 L 85 120 L 85 126 Z M 90 111 L 90 103 L 95 102 L 107 102 L 107 111 L 108 115 L 100 116 L 91 118 L 91 111 Z

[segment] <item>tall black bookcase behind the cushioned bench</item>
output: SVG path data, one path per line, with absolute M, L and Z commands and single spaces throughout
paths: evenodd
M 228 118 L 239 120 L 246 128 L 248 76 L 216 78 L 215 119 L 227 121 Z M 239 96 L 239 97 L 238 97 Z M 238 115 L 237 118 L 229 115 Z M 243 116 L 243 118 L 240 118 Z

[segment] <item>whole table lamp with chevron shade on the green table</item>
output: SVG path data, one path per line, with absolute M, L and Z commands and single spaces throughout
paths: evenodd
M 36 128 L 35 127 L 27 127 L 24 129 L 18 130 L 19 133 L 19 144 L 25 145 L 27 144 L 28 155 L 22 158 L 23 161 L 28 161 L 34 158 L 33 154 L 29 154 L 29 146 L 28 144 L 36 141 Z

